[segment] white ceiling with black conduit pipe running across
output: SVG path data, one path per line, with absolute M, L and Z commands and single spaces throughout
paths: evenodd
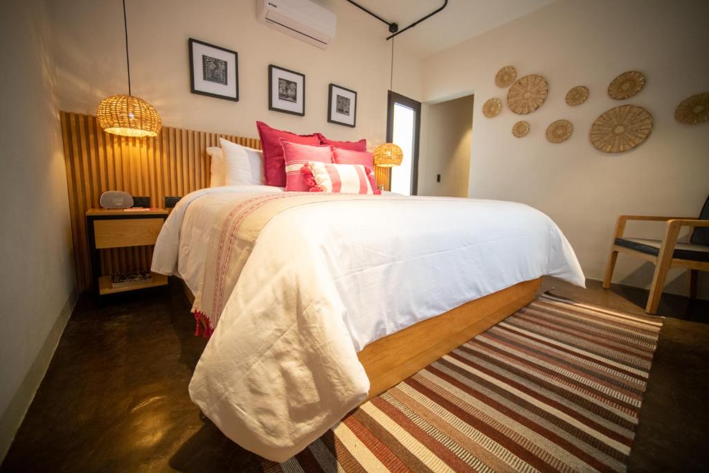
M 398 23 L 399 30 L 439 8 L 443 0 L 354 0 L 386 21 Z M 423 57 L 450 48 L 487 30 L 525 16 L 554 0 L 449 0 L 448 5 L 431 18 L 396 36 L 396 45 Z M 384 23 L 352 7 L 381 24 L 382 35 L 389 30 Z

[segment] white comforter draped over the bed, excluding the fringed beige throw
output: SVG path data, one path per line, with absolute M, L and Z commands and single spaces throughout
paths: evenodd
M 267 187 L 185 196 L 152 270 L 199 291 L 212 223 Z M 331 201 L 274 216 L 252 248 L 190 383 L 236 443 L 283 461 L 367 397 L 357 352 L 464 302 L 544 274 L 584 286 L 569 242 L 523 204 L 452 198 Z

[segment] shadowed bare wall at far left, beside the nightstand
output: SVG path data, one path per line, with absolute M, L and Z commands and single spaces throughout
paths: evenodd
M 76 300 L 50 45 L 43 1 L 0 3 L 0 459 Z

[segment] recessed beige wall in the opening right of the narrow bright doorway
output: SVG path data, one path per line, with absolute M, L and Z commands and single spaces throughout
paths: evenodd
M 418 195 L 468 196 L 473 104 L 473 96 L 469 95 L 425 107 L 418 157 Z M 441 175 L 441 182 L 436 182 L 437 174 Z

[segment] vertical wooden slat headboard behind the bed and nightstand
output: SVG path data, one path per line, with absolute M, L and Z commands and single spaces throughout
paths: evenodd
M 84 213 L 99 207 L 104 191 L 148 196 L 151 206 L 162 208 L 165 196 L 209 187 L 206 148 L 218 146 L 219 138 L 261 149 L 257 138 L 170 127 L 162 127 L 157 138 L 125 138 L 104 133 L 95 116 L 62 111 L 61 121 L 79 291 L 91 287 Z M 389 169 L 376 168 L 375 174 L 389 188 Z M 101 272 L 148 269 L 151 260 L 152 247 L 101 250 Z

